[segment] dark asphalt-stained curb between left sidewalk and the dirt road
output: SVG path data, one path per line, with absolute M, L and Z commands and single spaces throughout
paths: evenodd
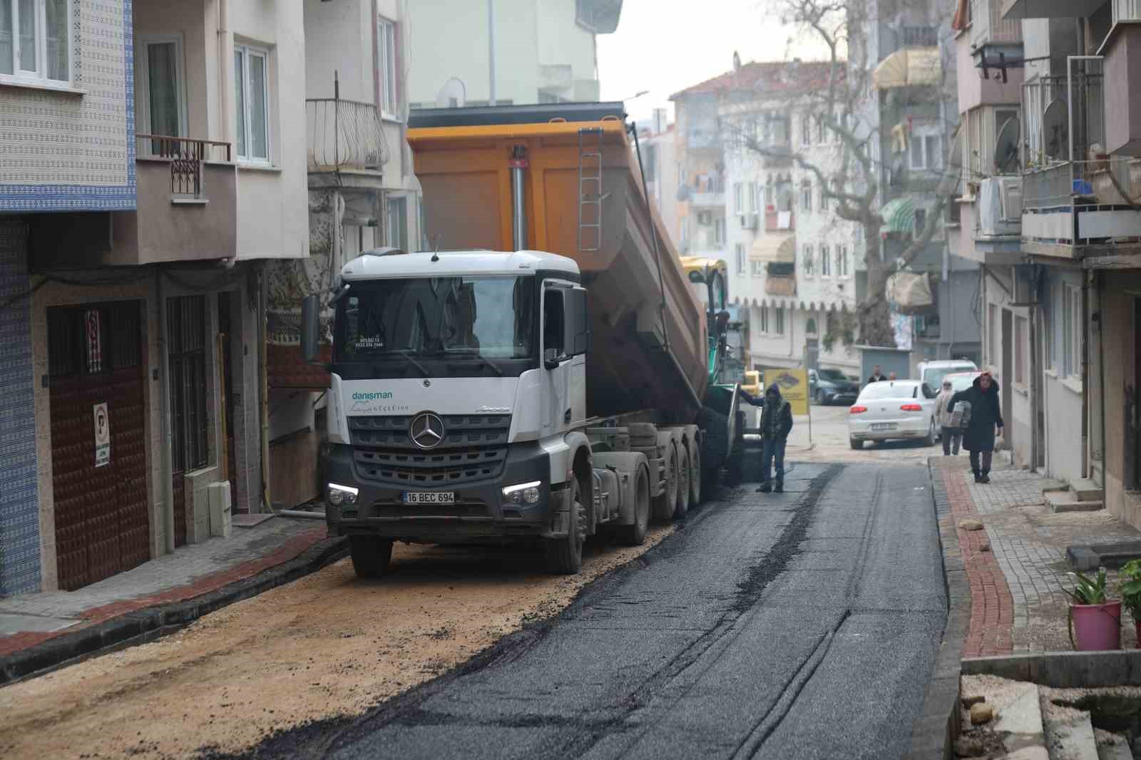
M 193 599 L 157 604 L 70 633 L 60 633 L 41 644 L 0 657 L 0 687 L 42 676 L 48 671 L 114 649 L 153 641 L 235 601 L 256 597 L 315 573 L 347 555 L 347 539 L 343 536 L 324 539 L 293 559 Z

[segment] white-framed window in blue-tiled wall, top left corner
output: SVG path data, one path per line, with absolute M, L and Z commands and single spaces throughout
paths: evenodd
M 0 79 L 71 82 L 68 0 L 0 0 Z

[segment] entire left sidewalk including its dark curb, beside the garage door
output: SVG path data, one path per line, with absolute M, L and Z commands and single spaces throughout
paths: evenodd
M 235 526 L 228 537 L 179 548 L 75 591 L 0 599 L 0 684 L 42 670 L 44 663 L 52 666 L 136 636 L 157 636 L 343 553 L 343 541 L 327 539 L 321 522 L 267 517 L 251 527 Z M 193 604 L 207 598 L 209 604 Z

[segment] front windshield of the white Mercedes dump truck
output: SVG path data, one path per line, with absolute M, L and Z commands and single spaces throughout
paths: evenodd
M 535 296 L 533 277 L 354 282 L 337 304 L 333 361 L 393 357 L 414 367 L 407 357 L 444 358 L 499 370 L 503 361 L 532 359 Z

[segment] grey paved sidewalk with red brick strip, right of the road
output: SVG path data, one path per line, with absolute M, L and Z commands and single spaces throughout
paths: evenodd
M 1035 472 L 998 469 L 976 484 L 966 456 L 931 459 L 937 486 L 947 491 L 956 526 L 977 519 L 984 531 L 957 528 L 971 588 L 971 622 L 964 657 L 1071 649 L 1067 613 L 1073 588 L 1066 548 L 1141 536 L 1108 511 L 1054 514 L 1043 487 L 1054 482 Z M 1116 573 L 1110 573 L 1116 585 Z M 1133 625 L 1122 626 L 1132 647 Z

